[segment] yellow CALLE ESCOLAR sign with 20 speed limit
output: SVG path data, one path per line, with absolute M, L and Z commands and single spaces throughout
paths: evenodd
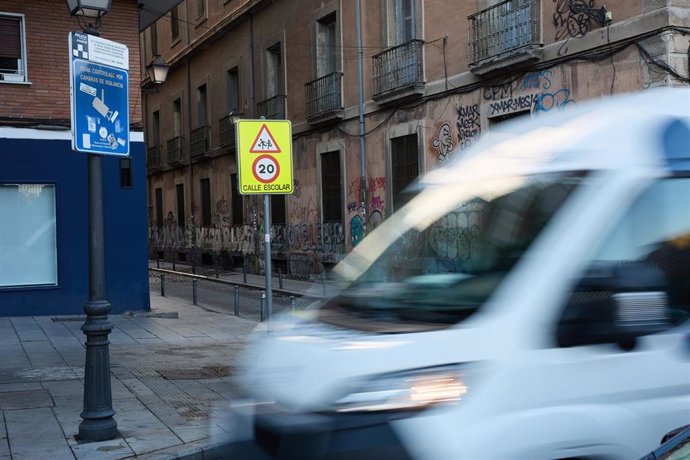
M 291 194 L 290 120 L 239 120 L 236 132 L 240 193 Z

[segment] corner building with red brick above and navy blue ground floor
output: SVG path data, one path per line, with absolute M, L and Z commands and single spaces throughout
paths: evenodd
M 129 48 L 130 156 L 103 158 L 107 300 L 148 310 L 139 16 L 114 0 L 101 37 Z M 71 148 L 64 1 L 0 2 L 0 316 L 82 314 L 89 300 L 87 157 Z

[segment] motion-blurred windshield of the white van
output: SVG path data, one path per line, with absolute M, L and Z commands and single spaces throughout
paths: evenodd
M 383 333 L 462 321 L 487 301 L 583 177 L 429 186 L 336 266 L 345 287 L 319 319 Z

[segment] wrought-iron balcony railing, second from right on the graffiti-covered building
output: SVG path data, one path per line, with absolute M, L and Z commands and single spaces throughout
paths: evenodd
M 410 40 L 373 56 L 374 97 L 387 91 L 424 83 L 424 40 Z

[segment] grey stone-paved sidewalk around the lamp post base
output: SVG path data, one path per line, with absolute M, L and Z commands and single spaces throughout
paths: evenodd
M 225 277 L 243 281 L 242 273 Z M 247 283 L 263 285 L 258 278 Z M 297 294 L 315 289 L 287 281 Z M 222 458 L 232 363 L 258 323 L 153 291 L 150 314 L 110 321 L 120 436 L 79 443 L 83 317 L 0 318 L 0 459 Z

